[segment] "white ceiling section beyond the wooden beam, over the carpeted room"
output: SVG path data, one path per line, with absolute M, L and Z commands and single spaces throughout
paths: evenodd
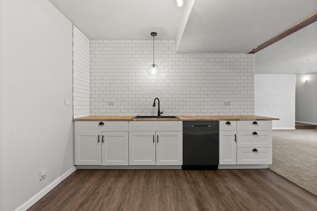
M 256 53 L 258 74 L 317 74 L 317 21 Z

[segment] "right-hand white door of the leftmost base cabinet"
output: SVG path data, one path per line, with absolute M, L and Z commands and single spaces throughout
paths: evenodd
M 102 165 L 127 166 L 128 132 L 102 132 Z

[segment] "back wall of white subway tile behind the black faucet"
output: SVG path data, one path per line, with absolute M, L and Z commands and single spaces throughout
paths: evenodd
M 254 115 L 254 54 L 175 53 L 156 40 L 164 76 L 153 79 L 153 40 L 90 42 L 92 116 L 156 115 L 156 97 L 163 115 Z

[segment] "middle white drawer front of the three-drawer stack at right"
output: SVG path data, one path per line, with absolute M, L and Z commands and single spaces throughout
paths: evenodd
M 272 131 L 238 131 L 237 134 L 237 147 L 272 147 Z

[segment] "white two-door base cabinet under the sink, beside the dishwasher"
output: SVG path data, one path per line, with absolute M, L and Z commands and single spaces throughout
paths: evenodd
M 147 128 L 157 131 L 142 131 Z M 182 164 L 183 132 L 181 121 L 130 122 L 129 165 Z

